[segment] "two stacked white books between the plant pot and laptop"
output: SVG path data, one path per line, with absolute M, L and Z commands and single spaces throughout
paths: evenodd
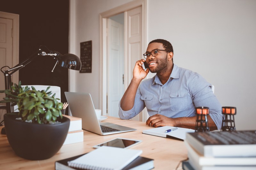
M 82 119 L 78 117 L 63 115 L 70 119 L 68 135 L 66 137 L 65 144 L 74 144 L 78 142 L 84 142 L 84 131 L 82 130 Z

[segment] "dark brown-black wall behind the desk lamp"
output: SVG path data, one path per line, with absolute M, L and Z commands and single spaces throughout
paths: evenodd
M 62 55 L 68 53 L 69 0 L 3 0 L 0 11 L 20 15 L 19 61 L 34 54 L 40 45 Z M 68 91 L 68 69 L 56 66 L 51 56 L 40 56 L 19 71 L 22 85 L 56 85 L 61 101 Z M 15 73 L 14 73 L 15 74 Z

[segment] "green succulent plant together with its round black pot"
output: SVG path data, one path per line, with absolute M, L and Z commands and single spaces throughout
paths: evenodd
M 3 90 L 6 97 L 0 103 L 12 102 L 19 112 L 4 115 L 7 139 L 14 152 L 25 159 L 51 158 L 64 143 L 70 120 L 62 117 L 62 103 L 46 90 L 32 90 L 12 83 L 10 90 Z

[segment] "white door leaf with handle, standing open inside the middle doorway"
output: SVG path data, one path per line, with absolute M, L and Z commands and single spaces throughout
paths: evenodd
M 118 103 L 124 94 L 124 26 L 107 20 L 107 114 L 118 116 Z

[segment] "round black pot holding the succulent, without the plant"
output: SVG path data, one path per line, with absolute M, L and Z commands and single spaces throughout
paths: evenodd
M 18 115 L 5 114 L 4 125 L 7 139 L 13 151 L 30 160 L 51 158 L 63 145 L 70 120 L 57 119 L 58 124 L 36 124 L 15 120 Z

